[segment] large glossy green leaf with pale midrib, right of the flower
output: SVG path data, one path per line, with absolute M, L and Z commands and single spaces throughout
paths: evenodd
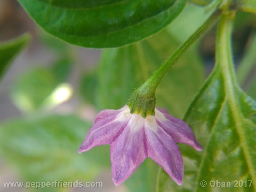
M 236 83 L 230 51 L 232 16 L 229 16 L 220 19 L 215 69 L 184 118 L 204 150 L 197 152 L 180 145 L 183 185 L 176 185 L 160 170 L 158 192 L 256 191 L 256 102 Z M 250 180 L 253 182 L 249 187 Z M 206 187 L 200 185 L 204 181 Z M 217 181 L 228 187 L 212 187 Z M 236 181 L 240 187 L 235 187 Z M 230 182 L 230 187 L 226 182 Z

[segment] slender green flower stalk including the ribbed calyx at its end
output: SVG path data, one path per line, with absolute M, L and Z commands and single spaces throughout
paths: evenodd
M 173 54 L 158 68 L 158 70 L 139 88 L 137 88 L 128 100 L 127 105 L 130 113 L 140 114 L 142 117 L 155 115 L 156 106 L 156 88 L 179 60 L 179 58 L 188 50 L 188 48 L 219 18 L 221 11 L 216 10 L 196 32 L 191 35 L 186 42 L 181 44 Z

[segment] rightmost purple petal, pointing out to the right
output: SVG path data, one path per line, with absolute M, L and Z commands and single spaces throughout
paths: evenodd
M 186 122 L 157 110 L 155 112 L 157 124 L 162 127 L 175 142 L 188 144 L 198 151 L 203 150 L 202 146 L 196 140 L 192 129 Z

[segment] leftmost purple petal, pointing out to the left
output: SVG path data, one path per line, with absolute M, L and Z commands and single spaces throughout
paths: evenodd
M 78 152 L 88 151 L 98 145 L 111 144 L 122 133 L 130 118 L 130 115 L 125 116 L 124 111 L 121 111 L 117 115 L 97 120 L 88 131 Z

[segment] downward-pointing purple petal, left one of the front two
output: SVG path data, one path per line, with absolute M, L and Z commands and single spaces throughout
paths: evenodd
M 124 131 L 110 146 L 112 179 L 116 186 L 124 182 L 147 157 L 144 119 L 137 114 L 131 116 Z

